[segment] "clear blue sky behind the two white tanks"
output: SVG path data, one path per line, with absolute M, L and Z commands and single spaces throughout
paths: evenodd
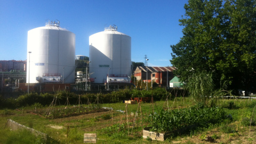
M 132 61 L 172 66 L 171 47 L 182 37 L 179 26 L 187 0 L 37 1 L 0 0 L 0 60 L 26 60 L 28 30 L 60 21 L 76 35 L 76 55 L 89 57 L 89 36 L 116 25 L 132 38 Z

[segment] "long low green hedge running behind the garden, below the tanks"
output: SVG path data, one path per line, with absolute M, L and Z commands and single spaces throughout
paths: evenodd
M 85 94 L 75 94 L 72 92 L 60 91 L 55 94 L 51 93 L 30 93 L 25 95 L 20 95 L 17 99 L 9 98 L 4 99 L 0 95 L 0 108 L 18 108 L 18 107 L 25 107 L 34 105 L 34 103 L 40 103 L 43 106 L 50 105 L 53 101 L 54 97 L 57 97 L 57 105 L 66 105 L 67 98 L 70 105 L 78 105 L 78 99 L 80 96 L 80 100 L 83 104 L 87 103 L 116 103 L 116 102 L 123 102 L 124 100 L 129 100 L 131 97 L 141 98 L 141 97 L 152 97 L 155 101 L 158 100 L 165 100 L 167 92 L 165 89 L 154 89 L 154 90 L 119 90 L 113 91 L 107 94 L 92 94 L 92 93 L 85 93 Z

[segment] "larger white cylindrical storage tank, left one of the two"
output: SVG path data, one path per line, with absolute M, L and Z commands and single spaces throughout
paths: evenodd
M 75 34 L 59 21 L 29 30 L 27 51 L 27 83 L 75 82 Z

